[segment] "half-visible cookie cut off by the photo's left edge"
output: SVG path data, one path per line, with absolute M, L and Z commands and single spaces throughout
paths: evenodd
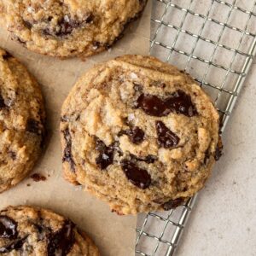
M 44 119 L 38 83 L 0 49 L 0 192 L 32 170 L 42 148 Z

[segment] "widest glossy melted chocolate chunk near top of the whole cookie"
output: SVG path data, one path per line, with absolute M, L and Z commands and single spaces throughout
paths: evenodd
M 172 96 L 162 100 L 158 96 L 144 95 L 138 97 L 136 107 L 143 109 L 152 116 L 162 117 L 171 112 L 182 113 L 192 117 L 197 114 L 195 106 L 189 95 L 177 90 Z

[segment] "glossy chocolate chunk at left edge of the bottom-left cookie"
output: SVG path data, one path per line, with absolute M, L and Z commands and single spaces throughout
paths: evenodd
M 0 237 L 15 239 L 17 236 L 17 223 L 12 218 L 0 216 Z

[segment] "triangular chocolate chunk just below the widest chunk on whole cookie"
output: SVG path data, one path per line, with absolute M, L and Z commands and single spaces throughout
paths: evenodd
M 179 143 L 179 137 L 161 121 L 156 121 L 157 141 L 162 148 L 173 148 Z

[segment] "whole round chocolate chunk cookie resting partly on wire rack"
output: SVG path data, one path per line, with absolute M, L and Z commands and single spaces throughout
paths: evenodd
M 219 116 L 189 75 L 125 55 L 84 74 L 61 113 L 64 174 L 119 214 L 168 210 L 201 189 Z

